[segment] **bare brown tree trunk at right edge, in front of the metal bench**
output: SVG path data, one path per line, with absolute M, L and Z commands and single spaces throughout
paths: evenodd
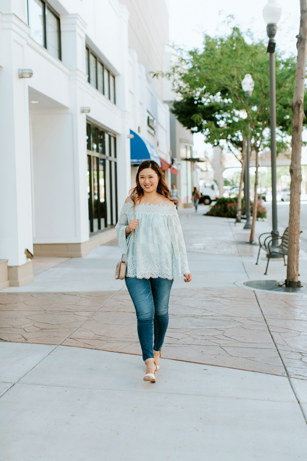
M 300 0 L 301 20 L 300 32 L 297 38 L 297 61 L 295 72 L 295 88 L 291 109 L 293 111 L 292 123 L 292 154 L 290 165 L 290 212 L 289 212 L 289 242 L 287 261 L 287 286 L 297 286 L 298 258 L 300 250 L 300 208 L 301 208 L 301 133 L 304 118 L 304 92 L 307 55 L 307 0 Z M 292 284 L 290 282 L 293 282 Z

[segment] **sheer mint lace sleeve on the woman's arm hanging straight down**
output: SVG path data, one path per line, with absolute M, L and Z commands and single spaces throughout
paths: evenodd
M 168 231 L 174 250 L 173 277 L 182 277 L 189 274 L 190 269 L 178 214 L 168 216 Z

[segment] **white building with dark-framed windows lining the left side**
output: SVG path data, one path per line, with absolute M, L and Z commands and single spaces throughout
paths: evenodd
M 115 236 L 131 130 L 170 181 L 167 41 L 166 0 L 0 0 L 0 289 Z

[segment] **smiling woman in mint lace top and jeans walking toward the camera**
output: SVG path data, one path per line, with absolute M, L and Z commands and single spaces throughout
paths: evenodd
M 139 342 L 146 365 L 143 379 L 155 383 L 168 327 L 168 301 L 174 278 L 184 276 L 184 281 L 190 282 L 192 276 L 174 205 L 176 200 L 170 199 L 156 162 L 146 160 L 139 165 L 136 187 L 130 192 L 116 232 L 123 254 L 131 238 L 125 282 L 138 320 Z

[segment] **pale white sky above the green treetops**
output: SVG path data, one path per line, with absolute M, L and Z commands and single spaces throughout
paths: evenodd
M 225 35 L 227 16 L 233 15 L 232 25 L 244 32 L 253 31 L 255 39 L 266 38 L 266 23 L 262 9 L 267 0 L 169 0 L 169 38 L 185 49 L 200 48 L 203 33 Z M 296 55 L 296 38 L 300 27 L 300 1 L 279 0 L 282 15 L 278 23 L 276 42 L 279 50 Z M 226 21 L 226 22 L 225 22 Z

